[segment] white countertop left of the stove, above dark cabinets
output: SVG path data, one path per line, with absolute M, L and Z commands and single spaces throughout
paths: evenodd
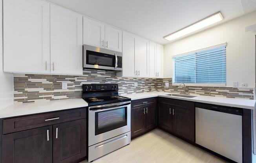
M 51 112 L 79 107 L 87 107 L 88 103 L 82 98 L 57 101 L 42 101 L 35 103 L 15 103 L 0 109 L 0 118 L 24 116 L 43 112 Z

